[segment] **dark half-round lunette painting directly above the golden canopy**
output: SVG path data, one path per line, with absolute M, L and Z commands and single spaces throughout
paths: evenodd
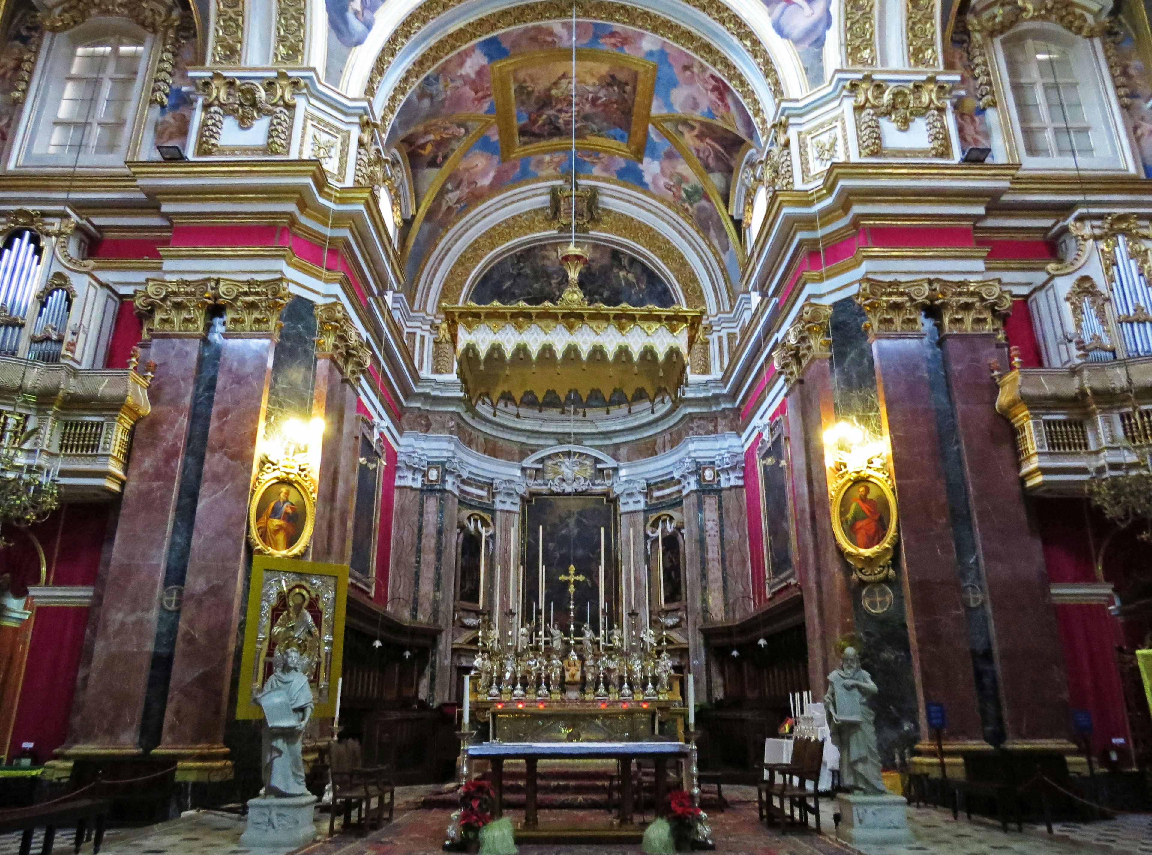
M 538 243 L 505 256 L 484 272 L 468 300 L 480 305 L 493 302 L 511 305 L 520 301 L 530 305 L 555 303 L 568 283 L 568 274 L 556 255 L 562 243 Z M 635 256 L 596 243 L 588 244 L 585 250 L 589 263 L 581 271 L 579 286 L 589 303 L 661 309 L 677 303 L 667 282 Z

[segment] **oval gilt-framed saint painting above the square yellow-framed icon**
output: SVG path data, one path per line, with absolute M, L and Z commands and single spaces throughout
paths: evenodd
M 294 558 L 312 542 L 316 484 L 294 457 L 265 463 L 248 506 L 248 539 L 256 554 Z

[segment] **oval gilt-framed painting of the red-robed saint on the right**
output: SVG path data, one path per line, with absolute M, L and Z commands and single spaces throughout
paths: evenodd
M 831 494 L 836 545 L 862 582 L 894 578 L 892 554 L 899 534 L 896 493 L 876 469 L 855 469 L 836 478 Z

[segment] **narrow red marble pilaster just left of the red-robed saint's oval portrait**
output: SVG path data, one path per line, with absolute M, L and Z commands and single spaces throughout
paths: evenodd
M 851 590 L 832 534 L 824 431 L 835 423 L 832 364 L 813 360 L 787 396 L 786 430 L 796 520 L 796 575 L 804 591 L 809 684 L 840 664 L 836 641 L 852 631 Z

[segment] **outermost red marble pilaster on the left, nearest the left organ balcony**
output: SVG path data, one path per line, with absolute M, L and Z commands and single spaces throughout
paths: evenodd
M 132 439 L 116 539 L 97 619 L 91 674 L 70 755 L 139 754 L 168 532 L 184 457 L 200 333 L 153 333 L 152 411 Z

